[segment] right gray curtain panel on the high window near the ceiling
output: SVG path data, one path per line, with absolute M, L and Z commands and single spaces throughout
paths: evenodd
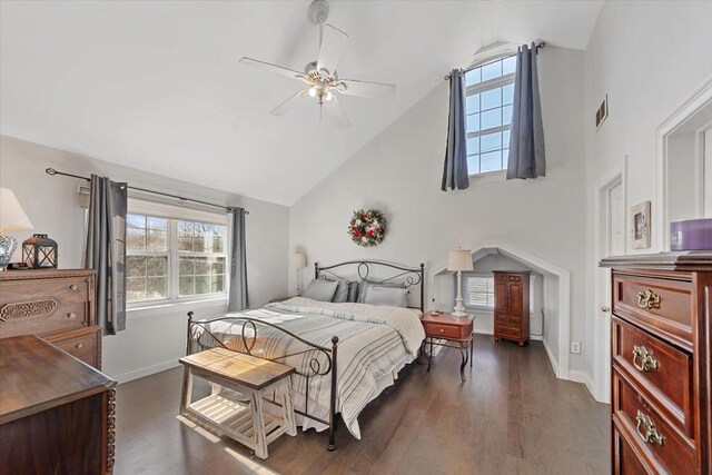
M 507 180 L 546 176 L 542 101 L 538 97 L 536 47 L 526 44 L 516 55 L 514 107 Z

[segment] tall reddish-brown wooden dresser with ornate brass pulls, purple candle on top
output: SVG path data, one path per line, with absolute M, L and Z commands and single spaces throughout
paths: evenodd
M 612 257 L 615 474 L 712 471 L 712 254 Z

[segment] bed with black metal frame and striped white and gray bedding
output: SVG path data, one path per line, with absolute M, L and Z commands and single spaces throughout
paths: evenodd
M 188 354 L 219 346 L 295 367 L 297 423 L 305 431 L 328 428 L 329 451 L 336 448 L 337 414 L 349 433 L 360 438 L 358 415 L 394 384 L 405 365 L 417 358 L 425 338 L 419 321 L 423 264 L 316 264 L 315 278 L 348 278 L 348 268 L 355 269 L 360 283 L 407 288 L 411 306 L 336 304 L 295 297 L 207 320 L 194 320 L 192 313 L 188 314 Z M 273 404 L 277 406 L 274 400 Z

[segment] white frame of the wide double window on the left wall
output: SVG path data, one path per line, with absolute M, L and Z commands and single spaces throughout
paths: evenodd
M 227 215 L 215 214 L 209 211 L 197 210 L 192 208 L 184 208 L 175 205 L 166 205 L 162 202 L 154 202 L 144 199 L 131 199 L 129 198 L 129 215 L 142 215 L 150 216 L 154 218 L 162 218 L 167 220 L 166 226 L 166 245 L 167 251 L 165 253 L 156 253 L 156 251 L 130 251 L 127 249 L 128 256 L 168 256 L 168 263 L 166 267 L 168 281 L 167 281 L 167 298 L 159 298 L 152 300 L 141 300 L 141 301 L 131 301 L 126 304 L 126 308 L 128 311 L 144 310 L 156 307 L 167 307 L 179 304 L 189 304 L 189 303 L 202 303 L 202 301 L 211 301 L 211 300 L 227 300 L 228 289 L 229 289 L 229 257 L 228 257 L 228 244 L 230 241 L 229 236 L 229 226 L 227 221 Z M 214 225 L 225 226 L 225 236 L 222 241 L 222 253 L 179 253 L 178 251 L 178 221 L 194 221 L 194 222 L 208 222 Z M 180 268 L 180 256 L 191 256 L 191 257 L 222 257 L 225 258 L 225 268 L 224 268 L 224 280 L 222 288 L 224 291 L 215 293 L 215 294 L 201 294 L 201 295 L 189 295 L 189 296 L 180 296 L 180 279 L 179 271 Z

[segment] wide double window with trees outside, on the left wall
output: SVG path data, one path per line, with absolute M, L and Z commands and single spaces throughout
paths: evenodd
M 226 226 L 129 214 L 127 301 L 174 301 L 226 294 Z

